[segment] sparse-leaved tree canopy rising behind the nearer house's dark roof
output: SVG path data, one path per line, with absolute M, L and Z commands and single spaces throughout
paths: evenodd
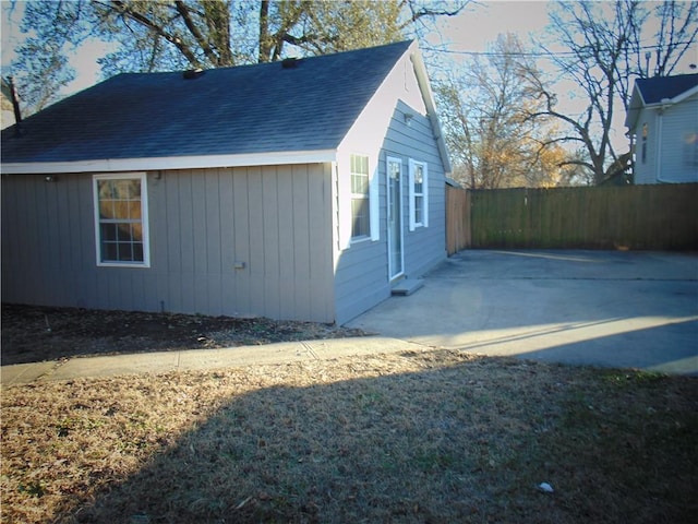
M 87 38 L 110 41 L 110 76 L 130 71 L 218 68 L 370 47 L 458 14 L 470 0 L 74 0 L 27 2 L 12 71 L 35 109 L 74 78 L 68 52 Z

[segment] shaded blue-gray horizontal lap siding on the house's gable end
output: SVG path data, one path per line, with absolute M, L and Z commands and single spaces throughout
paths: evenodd
M 410 126 L 405 114 L 413 115 Z M 429 118 L 402 102 L 393 114 L 378 158 L 377 241 L 352 243 L 339 254 L 336 271 L 337 322 L 345 323 L 390 296 L 387 248 L 386 157 L 402 160 L 405 276 L 417 278 L 446 258 L 445 174 Z M 429 227 L 409 230 L 409 159 L 429 166 Z

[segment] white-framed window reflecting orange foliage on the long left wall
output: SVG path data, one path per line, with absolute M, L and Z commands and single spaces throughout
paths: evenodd
M 97 265 L 149 266 L 145 174 L 95 175 Z

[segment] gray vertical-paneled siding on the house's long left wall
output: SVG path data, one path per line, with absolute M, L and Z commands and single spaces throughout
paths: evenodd
M 330 165 L 148 174 L 151 267 L 97 267 L 92 176 L 58 178 L 2 177 L 3 301 L 334 321 Z

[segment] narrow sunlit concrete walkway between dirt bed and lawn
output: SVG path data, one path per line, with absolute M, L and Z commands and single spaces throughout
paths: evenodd
M 75 357 L 60 361 L 51 360 L 2 366 L 0 368 L 0 383 L 2 385 L 13 385 L 48 380 L 70 380 L 77 377 L 112 377 L 132 373 L 220 369 L 254 364 L 285 364 L 353 355 L 400 353 L 413 350 L 416 347 L 413 343 L 397 338 L 368 336 L 220 349 Z

